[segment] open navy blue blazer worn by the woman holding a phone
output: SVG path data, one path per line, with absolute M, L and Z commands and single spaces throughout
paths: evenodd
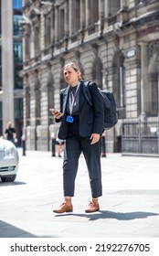
M 79 133 L 81 137 L 90 137 L 91 133 L 103 133 L 104 127 L 104 106 L 101 103 L 101 94 L 95 82 L 89 83 L 90 94 L 93 107 L 86 100 L 83 90 L 83 82 L 80 81 L 80 120 Z M 62 118 L 56 119 L 60 122 L 58 138 L 65 140 L 69 133 L 69 123 L 67 120 L 67 102 L 69 100 L 69 87 L 60 91 L 60 112 L 63 113 Z

